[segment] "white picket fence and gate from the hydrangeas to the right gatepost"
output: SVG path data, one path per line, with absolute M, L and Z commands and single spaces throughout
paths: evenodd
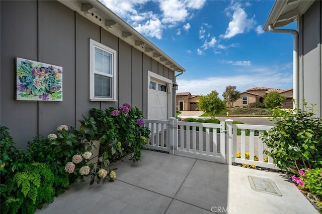
M 220 124 L 145 120 L 151 130 L 146 147 L 170 154 L 226 163 L 225 122 Z

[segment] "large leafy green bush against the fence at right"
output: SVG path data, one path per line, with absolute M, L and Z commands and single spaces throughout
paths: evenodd
M 273 110 L 274 127 L 262 139 L 272 151 L 280 169 L 298 171 L 300 168 L 322 167 L 322 120 L 314 116 L 313 105 L 304 109 Z

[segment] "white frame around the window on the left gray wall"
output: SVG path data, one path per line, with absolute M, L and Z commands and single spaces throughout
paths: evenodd
M 102 49 L 113 56 L 113 65 L 112 65 L 112 94 L 111 98 L 95 97 L 95 78 L 94 78 L 94 56 L 95 56 L 95 47 Z M 114 49 L 111 49 L 95 40 L 90 39 L 90 101 L 110 101 L 117 102 L 117 52 Z

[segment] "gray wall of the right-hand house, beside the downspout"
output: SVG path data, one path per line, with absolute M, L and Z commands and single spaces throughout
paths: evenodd
M 322 116 L 322 2 L 315 1 L 298 20 L 299 32 L 299 102 L 316 104 Z

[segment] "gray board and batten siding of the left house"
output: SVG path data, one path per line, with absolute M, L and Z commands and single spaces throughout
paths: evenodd
M 61 124 L 79 127 L 91 108 L 129 103 L 146 118 L 148 70 L 174 79 L 174 71 L 59 2 L 0 1 L 0 10 L 0 124 L 20 148 Z M 118 102 L 89 101 L 90 39 L 117 51 Z M 16 57 L 63 67 L 63 101 L 16 101 Z

